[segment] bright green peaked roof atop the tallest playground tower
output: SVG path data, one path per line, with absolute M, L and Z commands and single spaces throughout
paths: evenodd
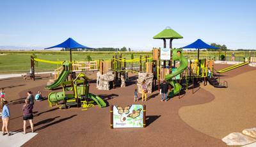
M 183 36 L 179 35 L 179 33 L 177 33 L 176 31 L 174 31 L 173 29 L 170 28 L 166 28 L 163 31 L 161 31 L 160 33 L 158 33 L 156 36 L 153 37 L 154 39 L 179 39 L 179 38 L 183 38 Z

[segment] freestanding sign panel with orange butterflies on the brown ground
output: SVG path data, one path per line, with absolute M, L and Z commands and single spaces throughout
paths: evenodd
M 111 106 L 111 128 L 145 127 L 145 105 Z

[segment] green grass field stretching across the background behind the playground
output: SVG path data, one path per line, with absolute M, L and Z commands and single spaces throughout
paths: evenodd
M 109 60 L 113 58 L 115 54 L 122 53 L 122 57 L 131 59 L 131 54 L 134 54 L 134 58 L 140 58 L 141 56 L 152 56 L 152 52 L 72 52 L 73 61 L 87 61 L 87 56 L 92 58 L 92 61 L 99 61 L 99 59 Z M 232 52 L 226 52 L 227 60 L 230 60 Z M 249 52 L 235 52 L 236 61 L 243 61 L 244 57 L 250 55 Z M 30 56 L 35 54 L 37 58 L 46 59 L 51 61 L 69 61 L 69 52 L 63 51 L 4 51 L 0 50 L 0 74 L 10 73 L 24 73 L 28 72 L 30 68 Z M 200 51 L 200 59 L 219 59 L 219 54 L 225 54 L 225 52 L 206 52 Z M 251 55 L 256 55 L 255 52 Z M 188 59 L 196 59 L 197 51 L 184 51 L 184 56 Z M 36 72 L 48 72 L 58 68 L 57 65 L 48 63 L 36 63 Z

